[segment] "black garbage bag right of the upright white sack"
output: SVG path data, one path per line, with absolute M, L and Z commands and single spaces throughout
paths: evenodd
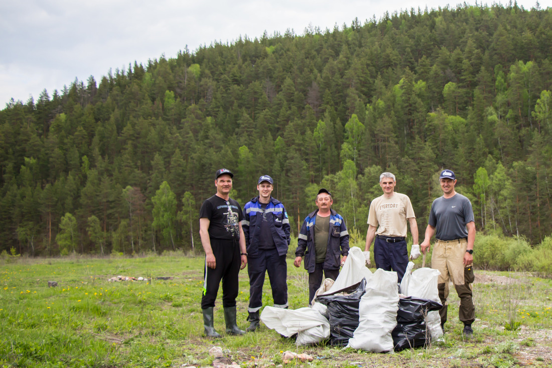
M 391 332 L 394 350 L 424 346 L 431 341 L 426 324 L 428 313 L 438 311 L 441 305 L 427 299 L 412 296 L 399 299 L 397 326 Z

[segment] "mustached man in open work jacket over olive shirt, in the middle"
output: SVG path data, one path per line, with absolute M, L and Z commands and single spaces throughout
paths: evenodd
M 316 195 L 318 209 L 305 218 L 299 232 L 293 265 L 299 267 L 302 257 L 305 257 L 305 269 L 309 273 L 309 305 L 322 284 L 322 273 L 326 279 L 335 280 L 339 266 L 349 254 L 347 225 L 343 217 L 331 209 L 332 204 L 332 194 L 320 189 Z M 340 255 L 343 255 L 342 259 Z

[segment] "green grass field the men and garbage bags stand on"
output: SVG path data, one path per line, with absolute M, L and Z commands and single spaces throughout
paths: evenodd
M 420 266 L 421 260 L 417 260 Z M 395 354 L 330 346 L 295 346 L 262 327 L 242 337 L 202 336 L 203 257 L 167 254 L 144 258 L 0 260 L 0 365 L 2 367 L 207 367 L 220 346 L 242 367 L 280 365 L 285 350 L 307 353 L 310 363 L 335 367 L 550 367 L 552 280 L 529 274 L 476 271 L 474 338 L 464 340 L 458 298 L 451 291 L 445 342 Z M 108 282 L 112 276 L 148 281 Z M 156 280 L 169 276 L 172 280 Z M 59 286 L 48 287 L 47 281 Z M 290 308 L 306 306 L 307 275 L 288 259 Z M 219 291 L 220 297 L 221 291 Z M 248 326 L 247 270 L 240 273 L 238 324 Z M 220 300 L 217 300 L 219 302 Z M 263 304 L 272 305 L 268 277 Z M 220 303 L 215 327 L 224 332 Z

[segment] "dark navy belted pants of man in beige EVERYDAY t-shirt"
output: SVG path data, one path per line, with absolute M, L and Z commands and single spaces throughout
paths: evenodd
M 408 265 L 406 241 L 388 243 L 384 239 L 376 237 L 374 240 L 374 260 L 376 268 L 395 271 L 399 277 L 399 282 L 401 282 Z

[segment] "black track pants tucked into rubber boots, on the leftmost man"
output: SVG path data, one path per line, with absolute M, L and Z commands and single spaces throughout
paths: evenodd
M 201 297 L 201 309 L 215 306 L 216 295 L 222 280 L 222 306 L 235 307 L 238 296 L 238 273 L 240 273 L 240 244 L 233 241 L 211 239 L 211 248 L 215 255 L 216 268 L 203 271 L 204 284 Z

